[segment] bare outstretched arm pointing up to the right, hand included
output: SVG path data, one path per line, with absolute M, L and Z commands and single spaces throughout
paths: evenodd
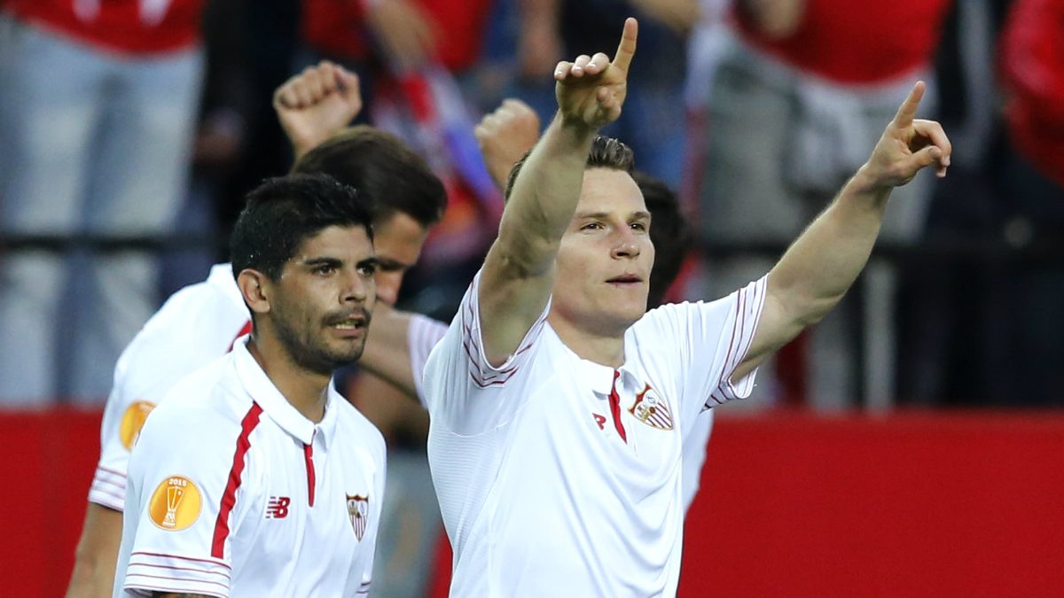
M 838 303 L 868 261 L 891 189 L 927 166 L 934 166 L 938 177 L 946 176 L 952 151 L 946 133 L 935 121 L 914 118 L 924 88 L 924 82 L 916 83 L 868 162 L 768 272 L 761 321 L 733 380 L 752 371 Z

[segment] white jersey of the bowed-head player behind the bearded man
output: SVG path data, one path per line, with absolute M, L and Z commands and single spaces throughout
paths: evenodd
M 250 325 L 229 264 L 173 294 L 148 320 L 115 367 L 89 502 L 122 510 L 126 465 L 145 417 L 179 380 L 229 352 Z

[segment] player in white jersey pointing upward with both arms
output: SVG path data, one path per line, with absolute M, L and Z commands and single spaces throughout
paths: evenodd
M 863 268 L 891 189 L 944 176 L 918 83 L 868 162 L 759 281 L 645 313 L 653 247 L 617 118 L 635 53 L 555 69 L 559 112 L 515 168 L 499 235 L 425 371 L 429 460 L 451 596 L 671 596 L 680 454 L 698 415 L 748 396 L 758 365 Z

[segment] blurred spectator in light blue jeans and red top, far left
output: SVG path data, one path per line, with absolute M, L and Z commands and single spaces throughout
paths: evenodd
M 154 235 L 185 188 L 202 0 L 9 0 L 0 10 L 0 231 Z M 0 401 L 102 400 L 156 301 L 156 260 L 10 252 Z

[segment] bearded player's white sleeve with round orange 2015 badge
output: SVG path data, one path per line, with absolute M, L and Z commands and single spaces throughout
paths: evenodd
M 248 427 L 221 427 L 219 420 L 214 412 L 164 404 L 146 422 L 129 467 L 139 492 L 130 495 L 138 500 L 124 513 L 136 517 L 127 591 L 229 596 L 229 532 L 248 511 L 238 471 L 245 459 L 230 455 L 249 443 L 243 435 Z

